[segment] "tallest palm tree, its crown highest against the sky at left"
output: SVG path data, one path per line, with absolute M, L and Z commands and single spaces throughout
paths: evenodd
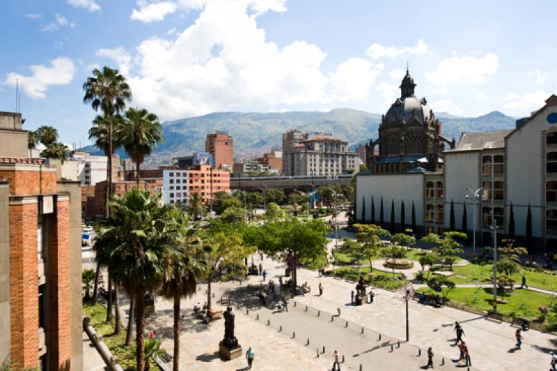
M 132 99 L 130 85 L 125 77 L 107 66 L 102 72 L 95 68 L 93 76 L 88 77 L 83 84 L 85 95 L 84 103 L 91 103 L 91 107 L 97 112 L 102 110 L 108 122 L 108 178 L 107 178 L 107 204 L 105 205 L 106 216 L 109 215 L 109 198 L 112 195 L 112 153 L 113 153 L 113 123 L 114 116 L 125 109 L 125 102 Z

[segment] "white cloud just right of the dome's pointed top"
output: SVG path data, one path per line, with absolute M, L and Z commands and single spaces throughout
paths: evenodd
M 451 84 L 482 84 L 487 75 L 499 69 L 499 57 L 494 53 L 486 53 L 483 57 L 450 56 L 441 59 L 437 70 L 426 73 L 425 77 L 432 84 L 446 86 Z

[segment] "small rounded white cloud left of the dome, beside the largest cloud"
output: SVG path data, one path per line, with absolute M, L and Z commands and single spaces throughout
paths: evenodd
M 350 58 L 340 63 L 335 73 L 329 74 L 334 96 L 339 100 L 364 100 L 368 98 L 370 86 L 379 75 L 366 59 Z

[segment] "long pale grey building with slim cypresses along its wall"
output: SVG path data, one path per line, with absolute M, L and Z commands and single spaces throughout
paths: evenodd
M 416 232 L 439 233 L 451 227 L 452 204 L 455 229 L 471 235 L 475 228 L 478 246 L 492 245 L 494 218 L 501 238 L 557 252 L 557 96 L 518 120 L 514 130 L 463 132 L 455 149 L 439 159 L 443 166 L 435 172 L 416 167 L 405 174 L 358 174 L 356 220 L 379 224 L 383 199 L 384 227 L 390 227 L 391 204 L 394 228 L 410 227 L 414 203 Z

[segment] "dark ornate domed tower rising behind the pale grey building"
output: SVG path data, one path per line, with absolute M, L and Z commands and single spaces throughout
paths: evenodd
M 416 98 L 415 87 L 406 70 L 400 98 L 382 116 L 379 138 L 366 146 L 366 165 L 372 174 L 435 172 L 443 167 L 445 144 L 455 147 L 455 139 L 449 141 L 441 135 L 441 122 L 425 98 Z M 378 155 L 375 146 L 379 146 Z

